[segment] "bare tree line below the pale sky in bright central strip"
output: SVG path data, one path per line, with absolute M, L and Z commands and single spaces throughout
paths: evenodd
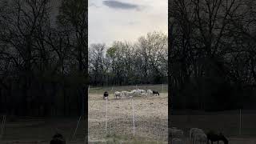
M 152 32 L 136 42 L 94 43 L 89 46 L 92 86 L 124 86 L 167 82 L 168 38 Z

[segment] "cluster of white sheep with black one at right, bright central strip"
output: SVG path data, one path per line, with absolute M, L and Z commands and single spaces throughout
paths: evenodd
M 131 90 L 131 91 L 115 91 L 114 98 L 133 98 L 134 96 L 148 96 L 148 95 L 159 95 L 158 91 L 156 90 Z

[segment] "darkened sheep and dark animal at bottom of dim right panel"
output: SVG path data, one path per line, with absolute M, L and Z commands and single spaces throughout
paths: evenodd
M 185 144 L 185 142 L 182 140 L 184 138 L 184 132 L 183 130 L 178 130 L 176 127 L 170 128 L 170 137 L 171 144 Z M 202 129 L 199 128 L 191 128 L 190 129 L 190 142 L 191 144 L 207 144 L 208 142 L 218 142 L 222 141 L 225 144 L 228 144 L 228 140 L 226 137 L 222 134 L 213 134 L 213 133 L 207 133 Z

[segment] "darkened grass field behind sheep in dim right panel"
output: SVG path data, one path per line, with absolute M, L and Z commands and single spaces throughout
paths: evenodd
M 222 132 L 232 144 L 256 143 L 256 111 L 242 110 L 241 134 L 239 134 L 239 110 L 222 112 L 190 111 L 190 115 L 184 111 L 175 111 L 171 116 L 172 126 L 185 131 L 186 137 L 192 127 L 198 127 L 204 131 L 214 130 Z

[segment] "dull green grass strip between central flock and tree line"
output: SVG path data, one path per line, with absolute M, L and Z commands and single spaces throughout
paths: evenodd
M 167 93 L 168 92 L 168 85 L 167 84 L 159 84 L 159 85 L 138 85 L 138 89 L 142 90 L 158 90 L 159 93 Z M 102 87 L 94 87 L 90 86 L 89 94 L 103 94 L 104 91 L 112 92 L 114 91 L 122 91 L 122 90 L 134 90 L 136 86 L 102 86 Z

